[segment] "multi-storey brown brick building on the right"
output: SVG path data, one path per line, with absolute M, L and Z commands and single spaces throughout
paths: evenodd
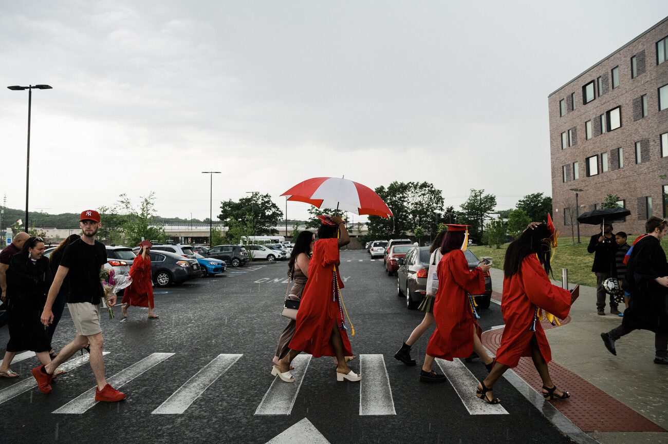
M 668 17 L 548 96 L 554 224 L 570 236 L 607 194 L 631 210 L 615 231 L 668 214 Z M 597 227 L 580 225 L 585 236 Z

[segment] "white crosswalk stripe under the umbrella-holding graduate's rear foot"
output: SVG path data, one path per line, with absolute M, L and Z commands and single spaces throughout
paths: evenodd
M 265 393 L 262 402 L 257 407 L 255 415 L 289 415 L 299 394 L 299 388 L 311 363 L 311 355 L 297 355 L 292 365 L 295 369 L 291 373 L 295 377 L 294 383 L 284 383 L 275 377 L 273 383 Z M 280 436 L 280 435 L 279 435 Z M 277 441 L 283 442 L 283 441 Z M 287 442 L 287 441 L 286 441 Z

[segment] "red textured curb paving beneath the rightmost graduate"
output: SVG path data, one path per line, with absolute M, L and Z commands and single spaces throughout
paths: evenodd
M 501 300 L 501 294 L 493 292 L 492 297 Z M 566 318 L 562 324 L 570 321 Z M 552 324 L 542 322 L 543 328 L 553 328 Z M 492 353 L 496 353 L 501 343 L 503 328 L 490 330 L 482 335 L 482 343 Z M 635 410 L 611 397 L 595 385 L 585 381 L 572 371 L 551 362 L 548 364 L 550 376 L 555 384 L 570 393 L 568 401 L 551 401 L 566 418 L 585 432 L 666 432 Z M 542 382 L 530 358 L 520 359 L 513 369 L 526 383 L 540 393 Z M 502 395 L 496 394 L 502 398 Z

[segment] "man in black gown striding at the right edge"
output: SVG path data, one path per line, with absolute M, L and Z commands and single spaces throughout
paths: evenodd
M 655 332 L 654 362 L 668 365 L 668 262 L 661 239 L 668 232 L 665 219 L 652 216 L 645 223 L 647 236 L 638 240 L 629 256 L 625 288 L 631 292 L 630 306 L 622 324 L 601 333 L 603 344 L 617 355 L 615 341 L 636 329 Z

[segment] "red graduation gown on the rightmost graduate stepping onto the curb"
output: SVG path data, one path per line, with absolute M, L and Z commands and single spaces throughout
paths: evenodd
M 536 321 L 536 331 L 530 330 L 536 306 L 564 319 L 570 311 L 570 292 L 552 285 L 538 257 L 530 254 L 522 260 L 519 272 L 503 281 L 501 313 L 506 326 L 496 351 L 496 361 L 516 367 L 520 357 L 531 356 L 529 342 L 534 335 L 543 359 L 546 362 L 552 360 L 550 344 L 540 322 Z

